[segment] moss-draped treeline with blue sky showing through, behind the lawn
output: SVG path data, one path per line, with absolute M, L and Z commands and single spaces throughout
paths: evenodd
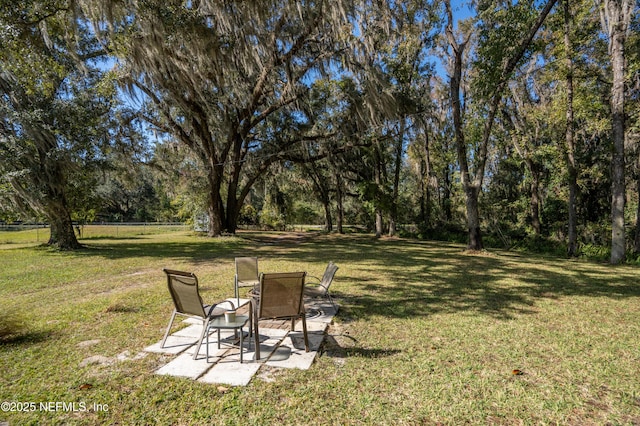
M 632 0 L 0 1 L 0 220 L 640 253 Z

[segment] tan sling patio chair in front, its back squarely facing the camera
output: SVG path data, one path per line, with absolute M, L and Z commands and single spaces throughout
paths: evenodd
M 304 347 L 309 352 L 307 321 L 304 311 L 304 277 L 306 272 L 283 272 L 260 275 L 260 293 L 254 297 L 253 326 L 256 343 L 256 361 L 260 359 L 260 332 L 258 323 L 267 319 L 290 319 L 291 331 L 295 321 L 302 319 Z

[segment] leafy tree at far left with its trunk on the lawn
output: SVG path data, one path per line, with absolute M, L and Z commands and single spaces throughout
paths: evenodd
M 5 200 L 44 217 L 49 244 L 79 247 L 72 211 L 88 202 L 90 170 L 112 143 L 115 87 L 105 50 L 69 2 L 2 2 L 0 172 Z

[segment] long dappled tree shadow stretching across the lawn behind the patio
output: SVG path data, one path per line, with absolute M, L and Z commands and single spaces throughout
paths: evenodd
M 456 244 L 363 235 L 241 233 L 237 237 L 109 242 L 78 256 L 154 257 L 195 264 L 235 256 L 340 269 L 332 285 L 347 314 L 408 318 L 476 312 L 501 319 L 537 312 L 542 299 L 639 297 L 637 268 L 495 251 L 467 253 Z

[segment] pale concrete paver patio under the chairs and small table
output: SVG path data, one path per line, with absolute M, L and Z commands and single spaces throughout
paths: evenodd
M 290 321 L 260 321 L 259 361 L 255 360 L 254 338 L 246 336 L 247 328 L 244 329 L 243 363 L 240 363 L 239 339 L 231 330 L 221 331 L 220 349 L 217 332 L 212 331 L 209 336 L 209 359 L 206 356 L 205 339 L 194 360 L 193 353 L 202 332 L 202 324 L 192 319 L 183 321 L 185 326 L 168 337 L 164 348 L 157 342 L 144 350 L 174 356 L 156 370 L 156 374 L 186 377 L 203 383 L 246 386 L 264 366 L 302 370 L 311 367 L 336 310 L 324 299 L 306 300 L 305 308 L 309 352 L 305 352 L 301 321 L 297 322 L 296 331 L 293 332 L 290 331 Z

